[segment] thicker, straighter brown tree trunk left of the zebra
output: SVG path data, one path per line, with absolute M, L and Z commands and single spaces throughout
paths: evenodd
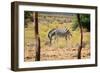
M 36 57 L 35 57 L 35 61 L 40 61 L 40 38 L 38 36 L 38 12 L 35 12 L 35 36 L 36 36 Z

